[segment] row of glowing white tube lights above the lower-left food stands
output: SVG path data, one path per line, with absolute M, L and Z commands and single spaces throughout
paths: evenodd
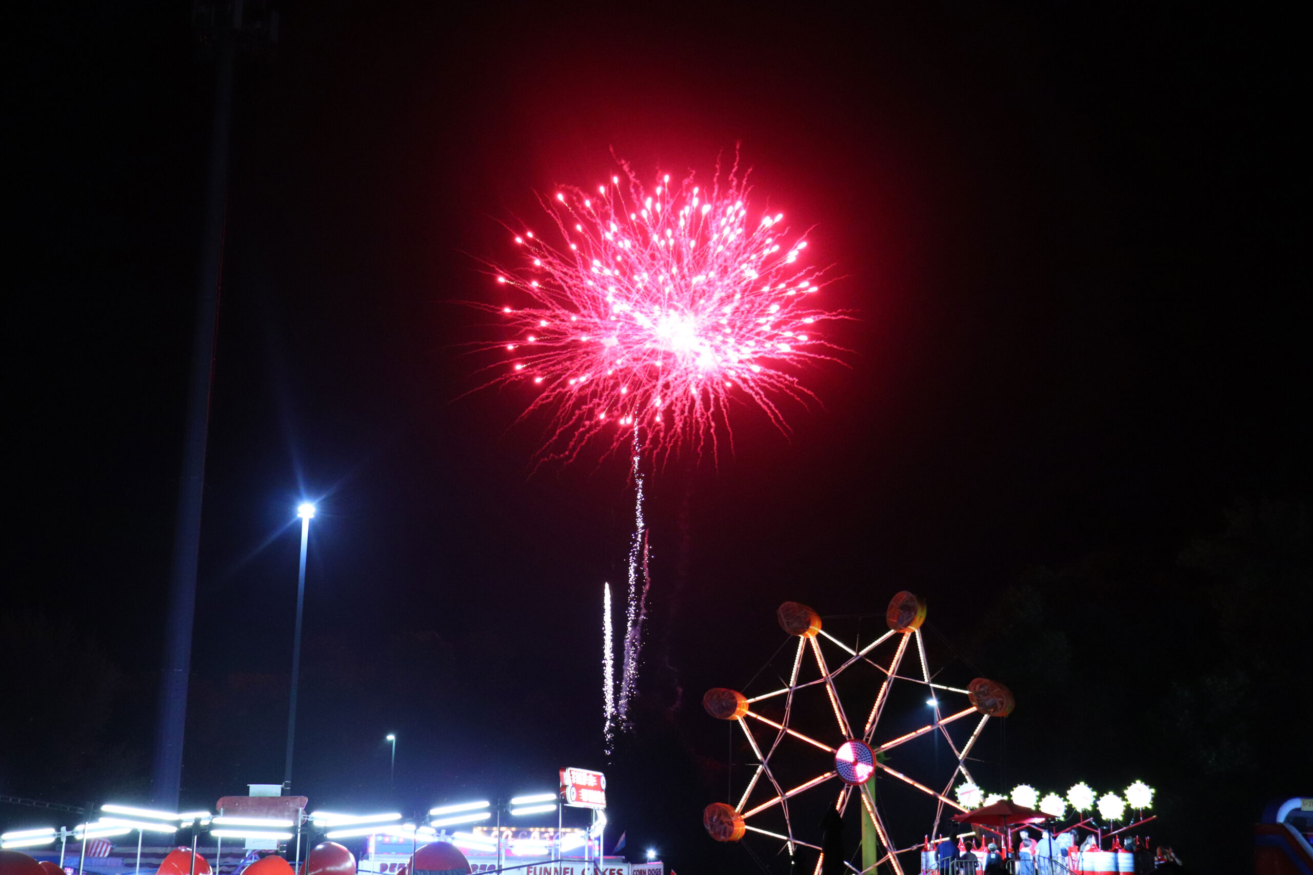
M 528 815 L 541 815 L 557 809 L 558 795 L 554 792 L 529 794 L 511 799 L 509 815 L 523 817 Z M 339 815 L 327 811 L 310 813 L 310 820 L 316 829 L 324 830 L 326 838 L 351 838 L 353 836 L 387 834 L 402 838 L 433 840 L 437 837 L 439 826 L 452 826 L 456 824 L 474 824 L 492 817 L 492 803 L 487 800 L 466 802 L 454 805 L 437 805 L 429 809 L 428 823 L 416 826 L 411 823 L 397 823 L 402 815 L 391 812 L 383 815 Z M 133 805 L 119 805 L 106 803 L 100 807 L 100 820 L 79 824 L 72 829 L 55 829 L 45 826 L 41 829 L 20 829 L 16 832 L 0 833 L 0 847 L 37 847 L 53 845 L 59 840 L 74 838 L 108 838 L 110 836 L 125 836 L 139 830 L 143 833 L 173 834 L 179 829 L 188 826 L 209 828 L 214 838 L 273 838 L 289 840 L 295 826 L 295 821 L 281 817 L 243 817 L 239 815 L 211 815 L 207 811 L 167 812 L 152 811 L 150 808 L 137 808 Z M 597 824 L 593 829 L 605 825 L 605 815 L 599 812 Z M 460 838 L 461 834 L 457 833 Z M 482 845 L 488 840 L 484 837 L 467 836 L 463 844 Z M 479 841 L 482 840 L 482 841 Z M 583 844 L 579 838 L 579 844 Z M 456 844 L 462 844 L 457 841 Z

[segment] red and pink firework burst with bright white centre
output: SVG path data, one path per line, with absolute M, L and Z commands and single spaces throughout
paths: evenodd
M 817 306 L 822 274 L 783 214 L 758 215 L 729 174 L 710 190 L 670 176 L 643 189 L 624 177 L 596 194 L 562 189 L 542 205 L 558 240 L 512 230 L 519 269 L 496 269 L 513 295 L 499 312 L 507 373 L 537 391 L 527 415 L 553 416 L 546 458 L 590 442 L 639 442 L 664 459 L 680 446 L 713 454 L 733 439 L 731 401 L 758 405 L 783 432 L 780 397 L 806 404 L 801 365 L 834 359 L 821 337 L 844 317 Z

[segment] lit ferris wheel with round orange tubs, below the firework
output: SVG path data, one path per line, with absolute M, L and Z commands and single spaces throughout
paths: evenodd
M 926 622 L 926 603 L 909 592 L 898 593 L 889 602 L 885 614 L 889 631 L 860 645 L 860 649 L 822 630 L 821 617 L 806 605 L 784 602 L 777 617 L 784 631 L 798 639 L 785 685 L 751 698 L 723 687 L 713 687 L 702 697 L 702 707 L 713 718 L 738 723 L 756 761 L 747 788 L 738 800 L 708 805 L 702 812 L 702 825 L 712 838 L 721 842 L 737 842 L 748 832 L 773 838 L 783 842 L 783 850 L 793 858 L 800 847 L 822 850 L 818 841 L 807 841 L 819 840 L 815 821 L 800 821 L 794 813 L 801 802 L 826 794 L 826 799 L 834 799 L 834 809 L 842 816 L 856 798 L 874 828 L 880 847 L 874 867 L 865 871 L 889 863 L 897 875 L 906 875 L 898 855 L 919 850 L 922 841 L 905 847 L 894 844 L 872 792 L 872 778 L 884 773 L 931 802 L 935 823 L 927 824 L 927 833 L 935 833 L 945 805 L 969 811 L 948 794 L 958 775 L 974 784 L 966 766 L 968 754 L 990 718 L 1007 716 L 1012 711 L 1012 693 L 986 678 L 973 680 L 966 689 L 935 682 L 920 632 Z M 911 649 L 916 655 L 909 660 Z M 830 651 L 829 659 L 826 651 Z M 832 669 L 831 661 L 835 665 Z M 903 668 L 906 662 L 911 662 L 910 669 Z M 865 677 L 855 677 L 863 674 Z M 886 715 L 886 706 L 895 693 L 906 701 L 902 687 L 928 694 L 924 702 L 934 707 L 934 718 L 926 725 L 886 737 L 892 733 L 881 731 L 881 719 L 886 724 L 895 722 L 894 711 Z M 829 706 L 821 702 L 822 697 Z M 953 698 L 957 701 L 949 706 Z M 918 695 L 916 701 L 920 702 L 922 697 Z M 907 714 L 899 716 L 906 725 Z M 934 733 L 941 733 L 956 760 L 943 791 L 885 762 L 892 756 L 888 752 Z M 800 778 L 805 779 L 800 782 Z M 835 782 L 839 783 L 838 790 Z M 790 804 L 794 811 L 790 811 Z M 819 854 L 814 870 L 817 875 L 822 861 L 823 854 Z M 844 865 L 852 871 L 864 871 L 847 861 Z M 913 871 L 918 870 L 919 866 Z

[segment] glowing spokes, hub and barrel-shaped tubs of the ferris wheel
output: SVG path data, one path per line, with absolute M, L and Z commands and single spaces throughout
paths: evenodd
M 953 782 L 957 779 L 958 773 L 961 773 L 965 781 L 974 783 L 970 771 L 966 769 L 966 754 L 970 753 L 972 746 L 976 744 L 977 739 L 979 739 L 981 732 L 985 729 L 985 724 L 989 723 L 991 716 L 1002 718 L 1007 716 L 1012 711 L 1012 693 L 1002 683 L 986 678 L 976 678 L 965 690 L 932 682 L 931 678 L 934 676 L 930 673 L 930 665 L 926 661 L 926 644 L 920 635 L 920 626 L 926 621 L 926 603 L 913 593 L 902 592 L 894 596 L 893 601 L 889 602 L 889 610 L 886 611 L 885 619 L 889 624 L 889 631 L 857 651 L 823 631 L 821 628 L 821 617 L 806 605 L 784 602 L 779 609 L 780 626 L 785 632 L 798 639 L 797 652 L 793 657 L 793 672 L 789 676 L 788 686 L 752 698 L 746 698 L 737 690 L 727 690 L 723 687 L 713 687 L 706 691 L 702 697 L 702 707 L 706 708 L 706 712 L 713 718 L 737 722 L 739 728 L 743 729 L 743 735 L 747 736 L 747 741 L 752 746 L 752 752 L 756 754 L 758 761 L 752 779 L 748 781 L 747 790 L 743 791 L 738 804 L 731 805 L 726 803 L 712 803 L 702 812 L 702 825 L 706 828 L 706 832 L 710 833 L 712 838 L 721 842 L 733 842 L 743 838 L 747 832 L 754 832 L 784 842 L 790 858 L 798 845 L 821 851 L 822 849 L 819 845 L 802 841 L 797 837 L 797 825 L 789 816 L 789 800 L 798 794 L 821 787 L 831 779 L 838 778 L 843 786 L 840 787 L 838 798 L 834 803 L 835 811 L 838 811 L 842 816 L 847 809 L 848 803 L 852 800 L 852 796 L 857 795 L 861 799 L 861 807 L 865 809 L 871 824 L 874 826 L 874 832 L 882 850 L 882 854 L 876 865 L 868 870 L 857 870 L 847 861 L 844 865 L 852 871 L 873 872 L 876 867 L 882 866 L 884 863 L 890 863 L 897 875 L 906 875 L 898 861 L 898 854 L 920 850 L 922 844 L 918 842 L 909 847 L 897 849 L 890 841 L 889 830 L 885 829 L 884 819 L 880 816 L 880 807 L 872 798 L 867 784 L 876 770 L 878 769 L 937 800 L 939 804 L 936 808 L 935 826 L 930 830 L 931 833 L 937 832 L 937 824 L 940 816 L 943 815 L 944 805 L 949 805 L 951 808 L 956 808 L 962 812 L 969 811 L 958 802 L 949 798 L 948 792 L 952 788 Z M 842 657 L 843 661 L 839 662 L 838 668 L 832 670 L 830 669 L 821 648 L 822 638 L 844 653 L 844 657 Z M 894 649 L 889 660 L 881 665 L 873 659 L 872 653 L 886 641 Z M 920 678 L 907 677 L 906 674 L 898 673 L 899 666 L 907 656 L 907 651 L 913 647 L 915 647 L 919 657 Z M 811 656 L 815 660 L 819 677 L 800 683 L 798 672 L 802 668 L 807 651 L 811 652 Z M 863 711 L 860 714 L 856 711 L 852 712 L 852 716 L 857 719 L 863 719 L 864 715 L 864 723 L 860 724 L 860 733 L 855 731 L 859 724 L 850 722 L 850 712 L 844 708 L 843 701 L 835 687 L 835 678 L 859 664 L 873 666 L 884 676 L 884 680 L 880 682 L 880 691 L 876 694 L 874 703 L 871 706 L 869 711 Z M 894 681 L 924 686 L 930 694 L 927 704 L 934 703 L 935 707 L 935 720 L 928 725 L 907 732 L 889 741 L 877 743 L 876 733 L 880 728 L 880 718 L 884 714 L 885 704 L 889 702 Z M 823 686 L 826 695 L 830 699 L 830 707 L 834 711 L 834 719 L 838 724 L 836 728 L 840 739 L 836 745 L 830 745 L 826 741 L 804 735 L 790 725 L 790 719 L 796 716 L 794 695 L 800 690 L 813 686 Z M 948 714 L 941 714 L 940 699 L 943 698 L 943 694 L 964 695 L 969 701 L 969 704 L 965 708 L 945 708 Z M 784 716 L 779 722 L 756 714 L 750 707 L 755 702 L 781 695 L 784 697 Z M 958 746 L 949 735 L 948 725 L 955 724 L 964 718 L 972 718 L 977 714 L 979 715 L 979 719 L 974 722 L 974 729 L 972 729 L 972 733 L 966 739 L 965 744 Z M 765 728 L 765 732 L 762 733 L 767 737 L 765 741 L 754 736 L 748 720 L 762 724 Z M 962 725 L 970 725 L 970 723 L 965 723 Z M 897 771 L 884 762 L 880 762 L 880 754 L 884 752 L 936 731 L 943 733 L 944 739 L 948 741 L 949 749 L 957 760 L 957 767 L 953 770 L 953 774 L 943 792 L 932 790 L 910 775 Z M 773 739 L 769 739 L 771 735 L 773 735 Z M 781 746 L 781 741 L 785 741 L 786 736 L 789 744 Z M 794 787 L 785 788 L 776 779 L 776 774 L 772 771 L 772 762 L 790 757 L 790 750 L 796 749 L 797 744 L 810 745 L 830 753 L 834 757 L 834 767 Z M 853 790 L 856 790 L 856 794 L 853 794 Z M 751 807 L 748 807 L 750 800 L 754 803 Z M 748 823 L 755 816 L 773 812 L 776 805 L 780 807 L 784 815 L 784 833 L 762 829 L 760 826 L 755 826 Z M 814 870 L 817 874 L 821 872 L 821 863 L 823 859 L 823 854 L 817 858 Z M 919 868 L 920 867 L 918 865 L 913 868 L 913 872 L 919 871 Z

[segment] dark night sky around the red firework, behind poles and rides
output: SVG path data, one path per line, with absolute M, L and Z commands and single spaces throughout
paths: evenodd
M 0 610 L 30 661 L 4 710 L 46 746 L 0 750 L 0 792 L 144 799 L 213 64 L 185 3 L 13 12 Z M 312 497 L 294 783 L 318 805 L 412 812 L 607 767 L 632 849 L 760 871 L 701 830 L 727 743 L 699 699 L 776 651 L 781 601 L 868 634 L 911 589 L 951 672 L 1011 682 L 995 621 L 1043 590 L 1037 628 L 1070 627 L 1073 668 L 1016 683 L 982 783 L 1145 777 L 1192 868 L 1243 859 L 1263 802 L 1313 792 L 1281 783 L 1313 781 L 1306 736 L 1268 735 L 1308 725 L 1306 648 L 1299 670 L 1236 669 L 1260 750 L 1218 766 L 1216 799 L 1179 783 L 1207 769 L 1159 762 L 1188 746 L 1170 722 L 1116 727 L 1222 682 L 1226 614 L 1180 556 L 1245 508 L 1296 519 L 1262 622 L 1308 634 L 1302 51 L 1276 12 L 1169 4 L 285 4 L 276 55 L 238 75 L 184 802 L 281 775 Z M 754 203 L 814 227 L 843 277 L 827 303 L 859 319 L 790 436 L 748 412 L 731 457 L 650 478 L 643 697 L 607 762 L 600 596 L 624 582 L 632 487 L 622 460 L 534 470 L 542 424 L 515 425 L 516 391 L 469 394 L 460 344 L 483 329 L 454 302 L 499 303 L 478 260 L 513 257 L 499 223 L 536 192 L 593 185 L 612 152 L 709 174 L 737 144 Z M 1260 677 L 1293 678 L 1288 698 Z M 1130 698 L 1095 707 L 1104 690 Z M 1073 701 L 1091 707 L 1065 733 Z M 1211 816 L 1225 838 L 1200 837 Z

